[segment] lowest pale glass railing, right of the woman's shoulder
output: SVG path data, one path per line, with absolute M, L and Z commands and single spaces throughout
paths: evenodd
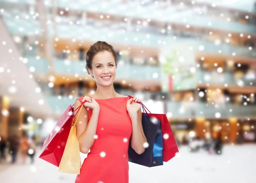
M 166 102 L 166 113 L 172 118 L 227 118 L 256 116 L 256 105 L 223 104 L 215 105 L 205 102 Z

